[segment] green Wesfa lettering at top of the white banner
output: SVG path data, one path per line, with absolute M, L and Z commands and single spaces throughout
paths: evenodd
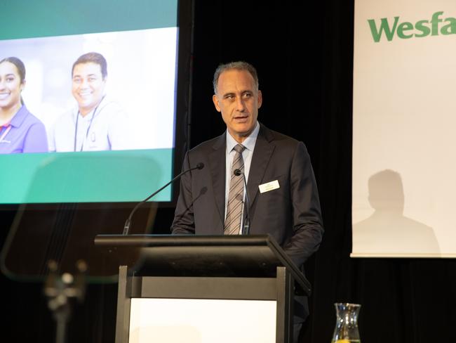
M 384 36 L 391 41 L 396 34 L 401 39 L 412 37 L 438 36 L 439 34 L 456 34 L 456 18 L 441 18 L 443 11 L 432 15 L 431 20 L 418 20 L 413 22 L 399 22 L 399 17 L 394 20 L 380 18 L 380 22 L 375 19 L 368 19 L 370 32 L 374 41 L 377 43 Z

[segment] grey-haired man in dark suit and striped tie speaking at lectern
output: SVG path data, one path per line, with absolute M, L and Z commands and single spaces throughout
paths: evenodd
M 305 145 L 257 122 L 262 93 L 252 65 L 220 65 L 213 84 L 213 102 L 227 131 L 185 156 L 183 169 L 199 162 L 205 167 L 182 176 L 172 231 L 241 234 L 248 198 L 250 234 L 269 233 L 301 267 L 318 249 L 323 235 L 318 191 Z M 301 304 L 301 309 L 295 306 L 295 315 L 300 317 L 295 316 L 295 323 L 302 324 L 308 314 L 307 299 Z M 295 332 L 300 326 L 295 325 Z

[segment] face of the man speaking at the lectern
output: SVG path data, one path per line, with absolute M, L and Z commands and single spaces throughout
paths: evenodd
M 246 70 L 226 70 L 220 74 L 213 102 L 227 124 L 229 134 L 242 143 L 255 129 L 258 108 L 262 104 L 252 75 Z

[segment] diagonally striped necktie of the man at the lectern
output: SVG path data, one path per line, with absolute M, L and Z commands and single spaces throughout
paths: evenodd
M 244 199 L 244 161 L 242 159 L 242 152 L 246 147 L 238 144 L 234 146 L 236 154 L 234 155 L 231 180 L 229 181 L 229 194 L 227 205 L 227 218 L 224 221 L 224 234 L 225 235 L 239 235 L 241 228 L 241 214 Z M 234 171 L 239 169 L 242 174 L 239 176 L 234 175 Z

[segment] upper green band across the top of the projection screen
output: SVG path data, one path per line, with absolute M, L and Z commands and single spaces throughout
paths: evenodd
M 6 0 L 0 13 L 0 39 L 177 26 L 177 0 Z

